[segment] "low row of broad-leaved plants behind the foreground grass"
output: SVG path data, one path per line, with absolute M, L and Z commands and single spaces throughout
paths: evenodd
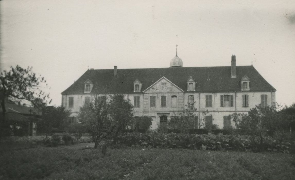
M 247 135 L 223 134 L 181 134 L 181 133 L 124 133 L 118 137 L 117 143 L 127 146 L 143 146 L 145 148 L 189 148 L 197 150 L 231 150 L 231 151 L 273 151 L 289 153 L 291 143 L 279 142 L 266 137 L 263 144 L 259 137 Z

